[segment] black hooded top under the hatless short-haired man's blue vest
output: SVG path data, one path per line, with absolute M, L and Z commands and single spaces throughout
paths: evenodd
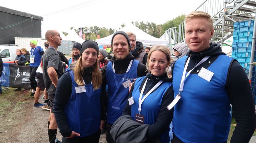
M 217 43 L 210 43 L 209 48 L 199 53 L 189 50 L 187 56 L 190 57 L 190 60 L 187 71 L 193 69 L 205 56 L 211 56 L 208 60 L 211 60 L 213 63 L 219 55 L 225 55 L 225 53 L 221 51 L 220 44 Z M 205 64 L 207 61 L 196 67 L 191 74 L 198 74 L 201 67 L 207 69 L 209 67 L 208 63 Z M 175 63 L 173 68 L 174 65 Z M 256 127 L 254 100 L 248 77 L 243 67 L 236 60 L 233 60 L 229 66 L 225 88 L 232 104 L 233 117 L 236 120 L 236 127 L 230 142 L 249 142 Z M 180 143 L 181 141 L 177 140 L 177 142 Z

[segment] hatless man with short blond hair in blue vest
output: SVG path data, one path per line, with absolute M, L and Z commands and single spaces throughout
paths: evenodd
M 209 14 L 191 12 L 185 19 L 185 39 L 190 48 L 173 66 L 175 143 L 224 143 L 231 124 L 230 142 L 249 142 L 255 130 L 255 110 L 249 80 L 240 64 L 210 43 L 213 22 Z M 177 95 L 177 96 L 176 96 Z

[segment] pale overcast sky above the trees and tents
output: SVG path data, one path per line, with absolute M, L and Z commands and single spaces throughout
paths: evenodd
M 129 22 L 164 24 L 189 14 L 205 0 L 1 0 L 0 6 L 44 17 L 42 37 L 49 29 L 69 33 L 74 27 L 106 27 L 118 30 Z

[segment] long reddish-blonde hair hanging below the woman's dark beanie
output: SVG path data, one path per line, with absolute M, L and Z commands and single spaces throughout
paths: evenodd
M 77 83 L 78 86 L 83 86 L 83 67 L 82 67 L 82 54 L 79 57 L 77 61 L 74 62 L 74 79 L 75 83 Z M 92 84 L 94 89 L 98 89 L 102 85 L 102 76 L 101 71 L 98 68 L 98 60 L 96 59 L 96 62 L 93 65 L 93 72 L 92 72 Z

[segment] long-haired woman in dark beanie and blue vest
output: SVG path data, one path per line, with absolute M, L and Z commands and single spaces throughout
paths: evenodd
M 58 81 L 54 113 L 62 143 L 98 143 L 106 111 L 98 68 L 98 44 L 86 40 L 81 56 Z

